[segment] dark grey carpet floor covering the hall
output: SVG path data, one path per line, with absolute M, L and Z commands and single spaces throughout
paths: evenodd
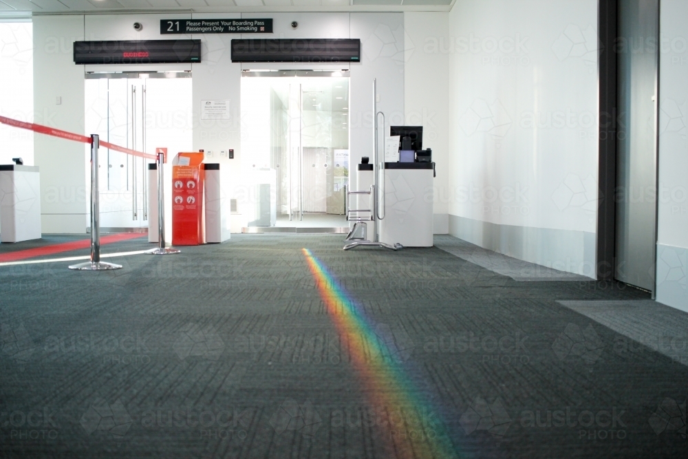
M 645 292 L 342 245 L 233 235 L 113 272 L 0 267 L 0 458 L 685 457 L 688 367 L 617 352 L 635 338 L 560 302 Z M 303 248 L 372 333 L 341 332 Z M 396 370 L 367 372 L 380 359 Z

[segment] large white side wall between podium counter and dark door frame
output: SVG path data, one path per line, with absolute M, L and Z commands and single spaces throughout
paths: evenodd
M 449 231 L 594 276 L 596 0 L 457 0 L 449 13 Z

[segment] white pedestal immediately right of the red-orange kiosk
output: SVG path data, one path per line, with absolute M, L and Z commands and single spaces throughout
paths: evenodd
M 206 214 L 206 243 L 226 241 L 231 235 L 228 167 L 205 163 L 204 212 Z

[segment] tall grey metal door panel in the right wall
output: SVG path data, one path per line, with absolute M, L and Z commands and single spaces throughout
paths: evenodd
M 654 290 L 658 0 L 619 0 L 616 279 Z

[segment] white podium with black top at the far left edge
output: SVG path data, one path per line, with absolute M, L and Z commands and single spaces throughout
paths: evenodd
M 0 165 L 0 241 L 30 239 L 41 239 L 39 168 Z

